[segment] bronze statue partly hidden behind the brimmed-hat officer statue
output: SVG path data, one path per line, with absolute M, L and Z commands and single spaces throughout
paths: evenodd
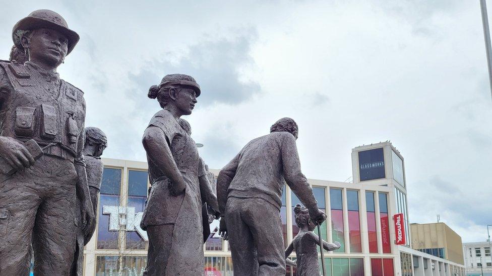
M 107 137 L 102 130 L 96 127 L 85 128 L 85 144 L 84 144 L 84 161 L 86 164 L 87 181 L 89 182 L 89 192 L 92 202 L 94 214 L 97 214 L 97 203 L 99 201 L 99 191 L 101 190 L 102 171 L 104 165 L 101 160 L 101 155 L 107 147 Z M 81 276 L 84 261 L 84 245 L 91 239 L 96 225 L 93 224 L 90 229 L 84 229 L 82 225 L 81 201 L 77 200 L 77 209 L 75 217 L 77 221 L 77 247 L 75 251 L 74 264 L 72 267 L 72 275 Z

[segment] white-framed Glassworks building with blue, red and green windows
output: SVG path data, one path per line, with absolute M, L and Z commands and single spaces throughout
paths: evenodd
M 84 250 L 84 275 L 142 275 L 148 242 L 139 223 L 150 187 L 147 163 L 103 162 L 97 230 Z M 325 253 L 328 275 L 464 275 L 463 265 L 411 249 L 410 231 L 403 245 L 395 244 L 393 216 L 403 214 L 402 227 L 409 228 L 403 157 L 390 143 L 354 148 L 352 164 L 353 182 L 309 179 L 328 216 L 321 235 L 342 245 Z M 280 216 L 286 247 L 299 231 L 292 210 L 297 203 L 285 186 Z M 211 224 L 204 244 L 205 275 L 232 275 L 228 243 L 217 234 L 218 226 L 218 220 Z M 288 266 L 286 275 L 295 275 L 295 267 Z

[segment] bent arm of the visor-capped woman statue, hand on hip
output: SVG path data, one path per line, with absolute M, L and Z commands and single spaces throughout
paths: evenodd
M 169 140 L 172 137 L 168 137 Z M 181 194 L 186 185 L 184 184 L 183 176 L 177 168 L 176 162 L 172 157 L 171 149 L 169 148 L 168 140 L 164 132 L 156 126 L 149 126 L 142 138 L 147 155 L 150 160 L 169 178 L 172 183 L 171 193 L 174 196 Z

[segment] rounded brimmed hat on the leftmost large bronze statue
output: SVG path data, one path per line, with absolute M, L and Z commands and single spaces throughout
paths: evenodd
M 12 29 L 12 40 L 14 40 L 17 48 L 24 49 L 21 44 L 22 32 L 20 31 L 30 31 L 39 28 L 53 29 L 67 36 L 67 55 L 72 52 L 77 42 L 79 42 L 79 35 L 69 29 L 63 17 L 50 10 L 37 10 L 17 22 L 14 29 Z

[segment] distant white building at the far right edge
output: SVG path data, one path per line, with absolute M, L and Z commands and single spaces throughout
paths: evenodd
M 492 276 L 492 256 L 490 242 L 463 243 L 463 256 L 467 276 Z

